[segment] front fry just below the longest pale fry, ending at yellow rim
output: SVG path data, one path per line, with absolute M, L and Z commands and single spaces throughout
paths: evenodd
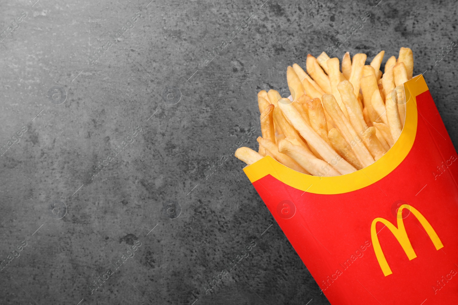
M 292 144 L 286 139 L 280 141 L 278 151 L 288 155 L 314 176 L 331 177 L 340 175 L 331 165 L 316 158 L 302 146 Z

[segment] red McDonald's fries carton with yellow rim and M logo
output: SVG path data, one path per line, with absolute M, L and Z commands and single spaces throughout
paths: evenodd
M 270 156 L 244 168 L 333 305 L 458 304 L 457 152 L 422 75 L 371 166 L 309 176 Z

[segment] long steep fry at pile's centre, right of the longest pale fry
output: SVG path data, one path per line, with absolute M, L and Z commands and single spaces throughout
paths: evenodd
M 369 166 L 374 163 L 374 158 L 372 158 L 371 154 L 364 146 L 363 141 L 356 133 L 353 126 L 351 126 L 348 118 L 346 118 L 342 110 L 340 110 L 340 107 L 338 106 L 334 96 L 331 94 L 325 94 L 322 97 L 322 102 L 327 113 L 329 113 L 331 118 L 333 118 L 334 124 L 336 124 L 336 128 L 339 129 L 341 134 L 344 136 L 344 139 L 349 144 L 351 144 L 352 150 L 354 151 L 361 164 L 363 166 Z

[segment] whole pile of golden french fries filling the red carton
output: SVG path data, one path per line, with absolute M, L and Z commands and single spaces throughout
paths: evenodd
M 322 177 L 349 174 L 382 158 L 402 132 L 402 85 L 414 67 L 412 50 L 401 48 L 382 73 L 384 54 L 366 65 L 366 54 L 351 59 L 347 52 L 342 70 L 325 52 L 307 55 L 307 73 L 298 64 L 288 66 L 290 99 L 273 89 L 257 94 L 259 153 L 240 147 L 235 156 L 251 165 L 269 155 L 294 171 Z

